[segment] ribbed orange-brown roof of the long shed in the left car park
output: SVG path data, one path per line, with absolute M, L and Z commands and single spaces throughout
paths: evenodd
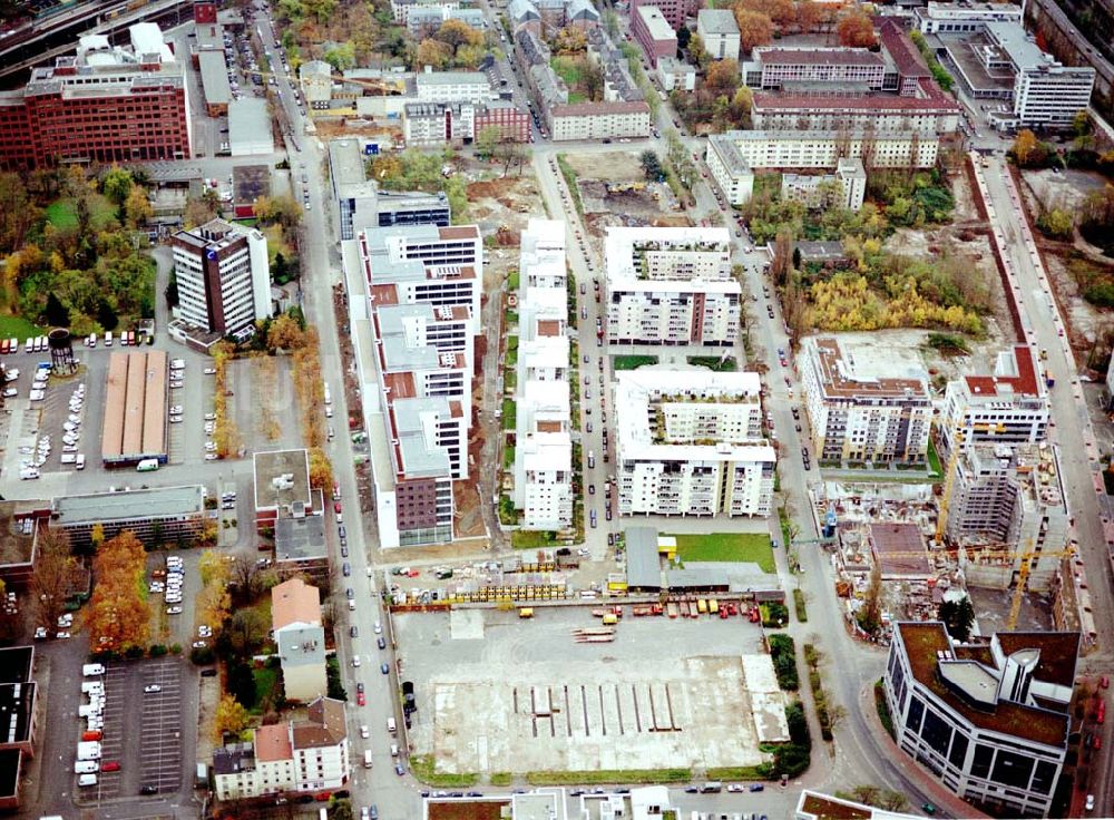
M 105 463 L 166 459 L 167 370 L 163 350 L 111 354 L 101 428 Z

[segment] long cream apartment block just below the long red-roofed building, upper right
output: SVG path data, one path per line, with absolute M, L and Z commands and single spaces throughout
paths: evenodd
M 870 168 L 931 168 L 938 137 L 895 131 L 726 131 L 709 138 L 733 143 L 749 168 L 834 168 L 841 157 L 858 157 Z M 711 165 L 711 159 L 710 159 Z

